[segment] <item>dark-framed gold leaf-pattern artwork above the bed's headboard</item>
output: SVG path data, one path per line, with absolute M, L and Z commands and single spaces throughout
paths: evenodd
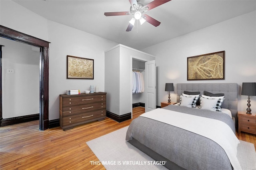
M 224 80 L 225 51 L 187 57 L 187 80 Z

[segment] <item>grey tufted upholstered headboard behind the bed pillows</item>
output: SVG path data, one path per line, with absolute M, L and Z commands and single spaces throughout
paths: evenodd
M 209 91 L 214 94 L 224 93 L 225 101 L 222 104 L 222 108 L 231 111 L 237 127 L 237 83 L 177 83 L 177 101 L 180 101 L 180 95 L 182 95 L 184 91 L 200 91 L 200 95 L 204 94 L 204 91 Z

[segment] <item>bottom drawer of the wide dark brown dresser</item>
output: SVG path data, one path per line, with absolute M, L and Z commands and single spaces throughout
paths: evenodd
M 62 126 L 72 126 L 76 124 L 81 124 L 83 122 L 90 122 L 92 119 L 101 118 L 104 119 L 106 117 L 105 111 L 92 111 L 90 113 L 81 113 L 77 115 L 71 115 L 68 117 L 62 117 Z

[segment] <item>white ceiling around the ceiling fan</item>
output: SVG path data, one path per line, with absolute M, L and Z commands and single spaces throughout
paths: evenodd
M 139 50 L 256 10 L 256 0 L 171 0 L 144 13 L 160 26 L 145 22 L 126 32 L 131 15 L 106 17 L 104 12 L 130 11 L 129 0 L 13 1 L 48 20 Z

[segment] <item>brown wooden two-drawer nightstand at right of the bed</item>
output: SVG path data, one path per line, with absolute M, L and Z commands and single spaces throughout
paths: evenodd
M 246 112 L 238 112 L 238 133 L 241 131 L 256 134 L 256 114 L 246 114 Z

